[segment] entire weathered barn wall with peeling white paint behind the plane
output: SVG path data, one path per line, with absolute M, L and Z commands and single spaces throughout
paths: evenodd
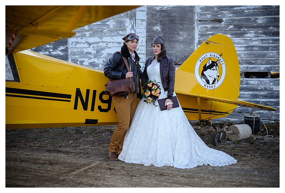
M 142 6 L 82 27 L 72 38 L 32 50 L 103 70 L 107 59 L 123 45 L 121 38 L 134 32 L 140 37 L 137 52 L 142 68 L 145 59 L 153 56 L 151 42 L 156 36 L 164 39 L 168 55 L 179 66 L 204 40 L 225 34 L 237 50 L 240 72 L 279 72 L 279 15 L 279 6 Z M 9 70 L 6 74 L 9 75 Z M 239 100 L 268 105 L 278 111 L 241 107 L 215 121 L 242 121 L 246 113 L 253 111 L 264 120 L 280 119 L 279 93 L 279 79 L 241 78 Z

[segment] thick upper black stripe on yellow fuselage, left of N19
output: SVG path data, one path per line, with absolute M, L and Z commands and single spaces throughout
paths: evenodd
M 71 94 L 61 94 L 61 93 L 54 93 L 54 92 L 26 90 L 26 89 L 20 89 L 20 88 L 8 88 L 8 87 L 6 87 L 6 93 L 26 94 L 26 95 L 34 95 L 34 96 L 45 96 L 45 97 L 71 99 Z

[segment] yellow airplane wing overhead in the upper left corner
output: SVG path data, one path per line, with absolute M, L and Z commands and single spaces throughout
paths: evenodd
M 7 6 L 6 51 L 16 53 L 75 35 L 72 30 L 140 6 Z

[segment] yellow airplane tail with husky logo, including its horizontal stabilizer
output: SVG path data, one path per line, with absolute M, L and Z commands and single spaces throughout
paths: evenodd
M 235 46 L 223 34 L 211 36 L 176 70 L 175 92 L 188 120 L 212 120 L 237 106 L 271 107 L 239 101 L 240 72 Z

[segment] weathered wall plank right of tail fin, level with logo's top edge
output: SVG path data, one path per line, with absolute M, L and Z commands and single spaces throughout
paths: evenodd
M 240 58 L 279 58 L 279 51 L 237 51 Z

